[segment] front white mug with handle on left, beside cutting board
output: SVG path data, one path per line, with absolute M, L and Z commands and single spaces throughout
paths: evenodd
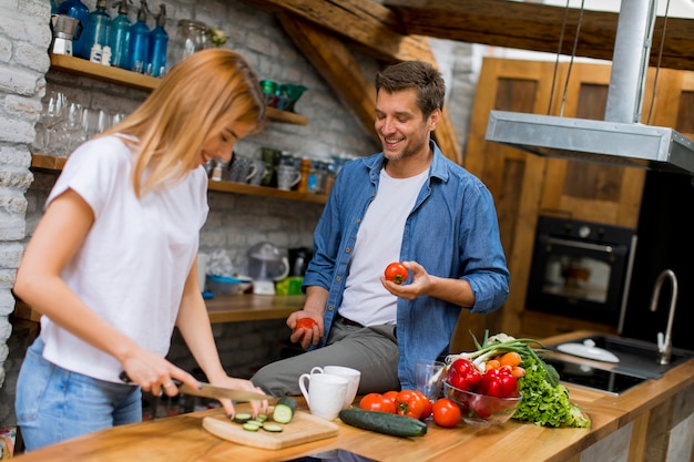
M 299 389 L 310 413 L 325 420 L 337 419 L 348 384 L 344 377 L 327 373 L 303 373 L 299 377 Z

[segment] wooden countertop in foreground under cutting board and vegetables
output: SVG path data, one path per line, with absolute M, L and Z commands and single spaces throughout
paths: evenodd
M 572 340 L 586 333 L 591 332 L 553 337 L 547 339 L 545 345 Z M 17 459 L 21 462 L 266 462 L 286 461 L 343 448 L 384 462 L 578 461 L 583 450 L 646 415 L 651 409 L 686 388 L 692 388 L 692 384 L 694 360 L 672 369 L 661 379 L 650 380 L 619 397 L 568 386 L 571 400 L 590 415 L 590 429 L 551 429 L 513 420 L 487 429 L 465 423 L 459 423 L 455 429 L 441 429 L 429 423 L 429 431 L 425 437 L 396 439 L 345 425 L 337 420 L 339 434 L 335 438 L 271 451 L 235 444 L 208 433 L 202 427 L 203 418 L 223 412 L 221 409 L 213 409 L 104 430 L 21 454 Z M 306 405 L 300 402 L 300 409 L 306 410 Z

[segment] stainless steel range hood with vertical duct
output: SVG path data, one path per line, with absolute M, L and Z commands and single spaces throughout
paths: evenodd
M 548 157 L 694 174 L 694 142 L 637 123 L 654 1 L 622 0 L 604 121 L 491 111 L 486 138 Z

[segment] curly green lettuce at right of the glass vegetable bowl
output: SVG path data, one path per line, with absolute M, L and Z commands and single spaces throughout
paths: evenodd
M 590 419 L 569 399 L 567 387 L 558 382 L 554 368 L 539 358 L 527 358 L 521 366 L 525 376 L 518 383 L 523 399 L 513 419 L 543 427 L 590 427 Z

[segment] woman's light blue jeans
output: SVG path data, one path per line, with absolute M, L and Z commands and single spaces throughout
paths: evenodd
M 42 352 L 39 337 L 17 382 L 14 409 L 27 451 L 142 421 L 140 387 L 70 372 L 43 359 Z

